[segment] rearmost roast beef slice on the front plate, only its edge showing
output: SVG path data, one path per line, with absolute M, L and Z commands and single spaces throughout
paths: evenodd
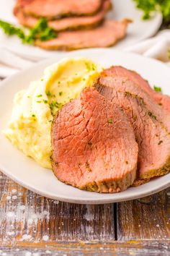
M 113 67 L 112 68 L 112 76 L 115 77 L 128 77 L 130 80 L 135 82 L 137 85 L 140 85 L 143 90 L 148 93 L 151 98 L 153 98 L 160 106 L 162 106 L 167 111 L 170 111 L 170 97 L 168 95 L 163 95 L 161 93 L 156 92 L 151 88 L 147 80 L 144 80 L 140 74 L 125 69 L 124 67 Z

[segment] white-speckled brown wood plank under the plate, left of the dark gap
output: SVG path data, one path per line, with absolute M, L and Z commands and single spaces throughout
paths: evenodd
M 0 173 L 0 244 L 115 239 L 114 209 L 75 205 L 36 195 Z

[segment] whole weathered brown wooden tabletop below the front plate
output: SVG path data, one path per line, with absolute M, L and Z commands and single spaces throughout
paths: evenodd
M 170 255 L 170 188 L 76 205 L 36 195 L 0 172 L 0 255 Z

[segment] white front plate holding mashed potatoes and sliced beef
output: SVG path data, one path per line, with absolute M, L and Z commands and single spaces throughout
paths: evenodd
M 39 64 L 35 64 L 34 67 L 1 82 L 0 131 L 6 127 L 7 121 L 11 115 L 14 93 L 17 93 L 18 90 L 23 88 L 27 88 L 32 80 L 37 80 L 42 75 L 45 67 L 66 56 L 85 56 L 97 61 L 104 67 L 122 65 L 129 69 L 135 69 L 137 72 L 142 74 L 143 77 L 149 80 L 151 85 L 161 86 L 164 93 L 170 94 L 170 69 L 159 61 L 111 49 L 75 51 L 69 54 L 62 54 L 60 57 L 56 56 L 55 59 L 42 61 Z M 161 189 L 169 187 L 170 185 L 169 173 L 166 176 L 154 179 L 140 187 L 130 187 L 125 192 L 117 194 L 86 192 L 58 182 L 58 179 L 55 178 L 52 171 L 38 166 L 31 158 L 24 156 L 22 152 L 11 145 L 9 140 L 7 140 L 1 132 L 0 141 L 1 171 L 14 179 L 15 182 L 45 197 L 51 197 L 66 202 L 89 204 L 120 202 L 151 195 Z

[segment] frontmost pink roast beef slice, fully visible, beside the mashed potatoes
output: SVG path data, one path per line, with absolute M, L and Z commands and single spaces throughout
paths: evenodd
M 63 106 L 53 121 L 52 165 L 66 184 L 120 192 L 136 176 L 138 145 L 123 111 L 88 88 Z

